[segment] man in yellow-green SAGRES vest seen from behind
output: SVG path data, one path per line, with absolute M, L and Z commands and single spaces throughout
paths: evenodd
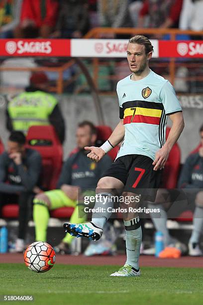
M 60 142 L 65 139 L 65 123 L 57 99 L 47 92 L 49 80 L 44 72 L 33 73 L 30 86 L 10 99 L 6 108 L 6 128 L 27 133 L 33 125 L 53 125 Z

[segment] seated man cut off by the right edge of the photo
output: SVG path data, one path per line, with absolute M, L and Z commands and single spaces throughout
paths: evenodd
M 188 156 L 179 180 L 179 187 L 193 188 L 195 191 L 193 196 L 196 204 L 193 216 L 194 227 L 188 244 L 189 255 L 191 256 L 203 255 L 199 247 L 200 236 L 203 230 L 203 125 L 200 128 L 200 137 L 202 146 L 198 152 Z

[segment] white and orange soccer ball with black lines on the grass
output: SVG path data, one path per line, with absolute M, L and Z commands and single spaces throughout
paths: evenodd
M 49 271 L 54 266 L 55 261 L 54 249 L 45 242 L 32 243 L 24 252 L 25 265 L 37 273 Z

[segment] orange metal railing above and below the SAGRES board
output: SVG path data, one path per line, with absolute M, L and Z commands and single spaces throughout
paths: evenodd
M 83 38 L 104 38 L 107 34 L 125 34 L 133 36 L 135 34 L 144 34 L 144 35 L 165 35 L 168 34 L 170 36 L 170 40 L 175 40 L 176 35 L 180 34 L 187 34 L 191 37 L 193 36 L 203 36 L 203 31 L 191 31 L 191 30 L 179 30 L 179 29 L 159 29 L 159 28 L 111 28 L 111 27 L 97 27 L 91 29 Z M 152 36 L 153 37 L 153 36 Z M 112 60 L 112 59 L 111 59 Z M 50 71 L 50 72 L 56 72 L 58 73 L 58 78 L 56 81 L 56 86 L 51 86 L 50 90 L 53 92 L 56 92 L 58 94 L 63 93 L 64 90 L 64 80 L 63 80 L 63 73 L 65 70 L 69 69 L 76 63 L 75 59 L 72 58 L 68 62 L 62 64 L 60 67 L 47 67 L 47 66 L 41 66 L 41 67 L 34 67 L 34 68 L 26 68 L 26 67 L 0 67 L 0 71 Z M 99 58 L 92 58 L 92 65 L 93 65 L 93 81 L 95 84 L 95 87 L 99 89 L 98 82 L 99 82 L 99 67 L 101 65 L 101 60 Z M 191 68 L 197 67 L 197 63 L 179 63 L 179 66 L 186 66 Z M 167 62 L 156 62 L 153 63 L 152 66 L 156 67 L 168 67 L 169 71 L 169 79 L 172 84 L 175 82 L 176 78 L 176 66 L 177 63 L 175 61 L 175 58 L 169 58 Z M 198 66 L 200 67 L 200 66 Z M 77 76 L 79 74 L 71 77 L 66 84 L 70 84 L 71 82 L 75 81 Z M 104 76 L 105 77 L 105 76 Z M 108 76 L 106 76 L 107 78 Z M 109 79 L 114 79 L 116 77 L 109 76 Z M 183 79 L 183 78 L 182 78 Z M 185 78 L 185 80 L 194 80 L 196 77 L 191 76 Z M 197 79 L 203 80 L 203 76 L 197 76 Z M 77 93 L 79 93 L 81 90 L 83 90 L 83 86 L 81 86 L 81 89 L 79 88 L 77 90 Z M 110 92 L 105 92 L 110 93 Z

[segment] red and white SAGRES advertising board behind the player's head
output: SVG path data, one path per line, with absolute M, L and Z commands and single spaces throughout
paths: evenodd
M 202 58 L 202 40 L 151 40 L 154 58 Z M 126 57 L 126 39 L 0 39 L 0 56 Z

